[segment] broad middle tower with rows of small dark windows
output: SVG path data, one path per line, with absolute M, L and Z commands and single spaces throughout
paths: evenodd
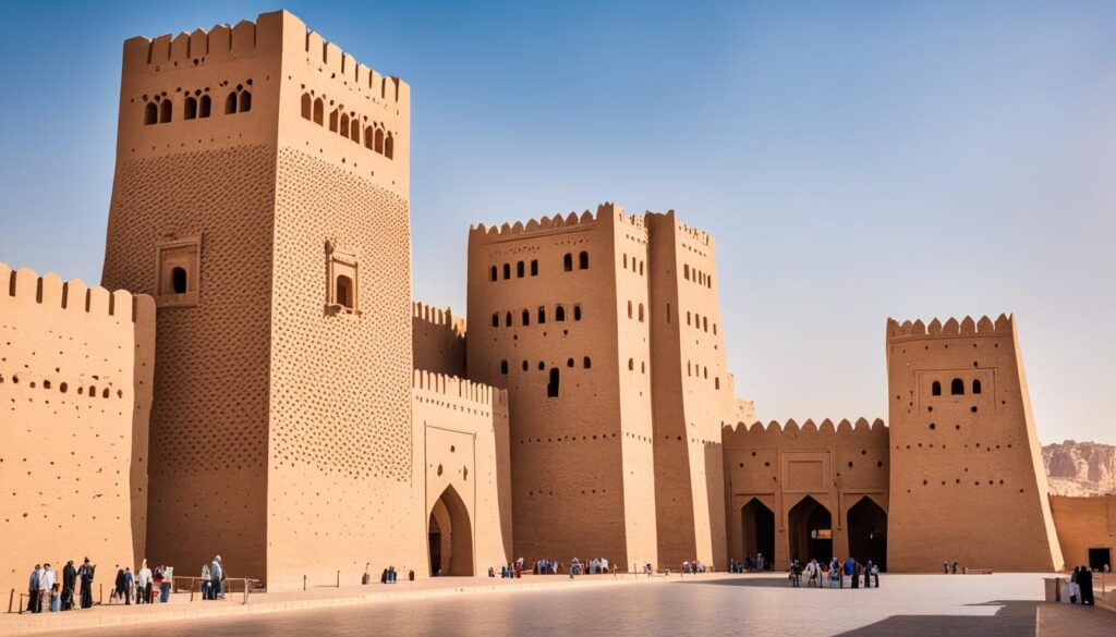
M 508 389 L 517 558 L 657 562 L 648 330 L 627 313 L 647 288 L 622 264 L 645 245 L 612 204 L 470 232 L 468 369 Z

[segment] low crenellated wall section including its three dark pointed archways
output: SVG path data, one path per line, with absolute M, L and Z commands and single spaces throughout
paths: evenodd
M 776 570 L 849 556 L 887 568 L 888 435 L 865 418 L 725 426 L 729 556 L 773 553 Z

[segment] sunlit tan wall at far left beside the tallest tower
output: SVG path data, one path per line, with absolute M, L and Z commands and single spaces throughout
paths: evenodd
M 0 263 L 0 589 L 145 557 L 154 367 L 151 297 Z

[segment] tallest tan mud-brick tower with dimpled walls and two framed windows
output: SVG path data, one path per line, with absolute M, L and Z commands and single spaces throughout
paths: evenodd
M 158 308 L 156 562 L 424 572 L 408 158 L 407 85 L 286 11 L 125 42 L 103 281 Z

